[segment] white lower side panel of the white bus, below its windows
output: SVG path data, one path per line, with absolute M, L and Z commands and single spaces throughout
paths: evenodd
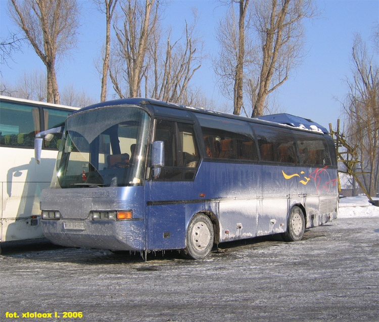
M 39 198 L 48 189 L 53 175 L 57 151 L 42 151 L 36 164 L 33 149 L 0 148 L 2 168 L 1 235 L 0 241 L 43 238 L 39 224 Z M 38 216 L 37 221 L 31 221 Z M 33 225 L 32 225 L 33 223 Z

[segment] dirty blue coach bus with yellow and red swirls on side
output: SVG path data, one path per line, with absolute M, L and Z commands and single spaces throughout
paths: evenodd
M 337 218 L 334 143 L 311 120 L 134 98 L 78 110 L 55 131 L 62 143 L 40 203 L 55 244 L 202 259 L 227 241 L 298 241 Z

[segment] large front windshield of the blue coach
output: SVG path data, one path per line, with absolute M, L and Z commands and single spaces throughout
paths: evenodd
M 68 117 L 51 188 L 143 185 L 150 117 L 131 106 Z

